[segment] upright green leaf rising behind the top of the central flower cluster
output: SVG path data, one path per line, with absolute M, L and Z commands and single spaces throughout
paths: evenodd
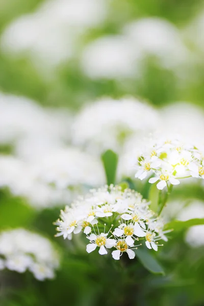
M 106 172 L 107 184 L 115 183 L 115 176 L 118 164 L 118 155 L 112 150 L 107 150 L 102 156 L 101 159 L 104 164 L 104 169 Z

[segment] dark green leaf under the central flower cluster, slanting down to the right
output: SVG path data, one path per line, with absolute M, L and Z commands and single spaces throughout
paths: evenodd
M 151 273 L 165 275 L 163 268 L 158 263 L 158 261 L 151 256 L 149 250 L 138 248 L 136 251 L 136 256 L 141 262 L 141 264 Z

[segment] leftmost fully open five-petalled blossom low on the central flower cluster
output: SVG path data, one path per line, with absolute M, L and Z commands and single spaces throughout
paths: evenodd
M 98 253 L 100 255 L 107 254 L 106 248 L 112 248 L 116 241 L 115 239 L 107 238 L 108 234 L 101 233 L 100 235 L 96 236 L 95 234 L 91 234 L 89 237 L 87 237 L 91 243 L 87 245 L 86 250 L 88 253 L 94 251 L 96 247 L 99 247 Z

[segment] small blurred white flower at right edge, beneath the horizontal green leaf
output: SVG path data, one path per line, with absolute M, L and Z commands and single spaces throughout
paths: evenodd
M 204 225 L 195 225 L 189 228 L 185 237 L 190 247 L 200 247 L 204 245 Z

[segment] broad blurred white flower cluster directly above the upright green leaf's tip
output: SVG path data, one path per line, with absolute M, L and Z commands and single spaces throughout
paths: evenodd
M 73 142 L 92 151 L 118 151 L 133 135 L 141 137 L 154 130 L 158 120 L 157 111 L 144 101 L 131 97 L 101 98 L 76 116 Z

